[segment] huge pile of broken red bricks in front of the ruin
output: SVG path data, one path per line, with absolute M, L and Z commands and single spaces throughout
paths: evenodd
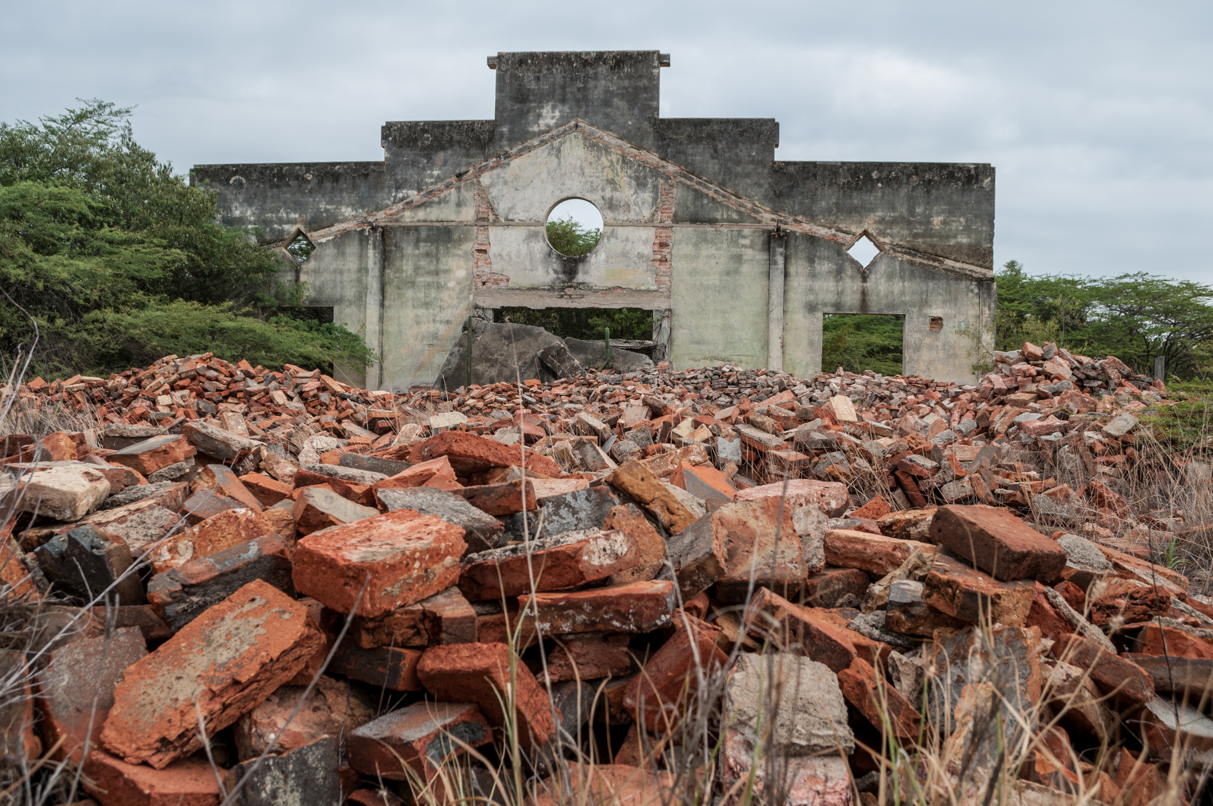
M 500 799 L 467 750 L 514 742 L 536 802 L 574 750 L 591 802 L 640 802 L 710 708 L 713 798 L 761 749 L 759 794 L 875 802 L 882 733 L 938 731 L 962 789 L 1024 739 L 1023 798 L 1145 804 L 1213 749 L 1213 606 L 1146 560 L 1190 524 L 1122 494 L 1164 390 L 996 358 L 392 395 L 170 356 L 7 390 L 96 427 L 0 443 L 0 579 L 72 624 L 0 655 L 32 664 L 0 742 L 103 806 Z

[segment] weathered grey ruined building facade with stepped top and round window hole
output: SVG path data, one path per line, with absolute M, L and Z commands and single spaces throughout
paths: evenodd
M 969 382 L 993 328 L 993 168 L 778 161 L 774 119 L 661 118 L 656 51 L 499 53 L 494 120 L 388 123 L 383 161 L 197 165 L 222 223 L 315 245 L 285 271 L 382 356 L 351 382 L 432 382 L 477 307 L 640 307 L 676 369 L 820 369 L 822 316 L 905 317 L 904 369 Z M 547 243 L 569 198 L 599 244 Z M 867 235 L 862 266 L 847 250 Z M 827 368 L 832 369 L 832 368 Z

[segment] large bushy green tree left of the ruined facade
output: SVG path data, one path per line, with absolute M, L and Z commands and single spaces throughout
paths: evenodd
M 365 365 L 344 328 L 277 312 L 284 263 L 215 223 L 215 194 L 138 146 L 130 109 L 86 101 L 0 124 L 0 351 L 40 339 L 45 375 L 106 371 L 167 352 Z M 28 314 L 28 316 L 27 316 Z

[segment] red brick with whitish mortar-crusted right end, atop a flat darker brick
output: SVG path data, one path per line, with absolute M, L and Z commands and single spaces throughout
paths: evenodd
M 528 557 L 529 552 L 529 557 Z M 585 529 L 471 555 L 459 586 L 472 601 L 564 590 L 634 567 L 639 549 L 625 532 Z M 533 586 L 534 581 L 534 586 Z

